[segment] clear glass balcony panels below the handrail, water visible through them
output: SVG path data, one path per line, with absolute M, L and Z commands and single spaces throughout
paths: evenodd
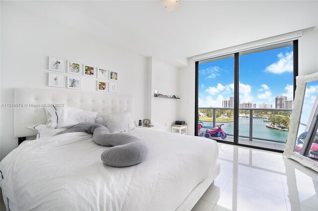
M 199 107 L 199 112 L 208 113 L 206 118 L 201 118 L 199 121 L 200 129 L 198 130 L 199 136 L 214 139 L 233 142 L 234 134 L 234 122 L 233 121 L 222 121 L 213 122 L 213 110 L 215 110 L 215 115 L 226 116 L 227 113 L 233 112 L 233 109 L 224 109 L 222 107 Z M 268 149 L 276 149 L 283 151 L 286 145 L 286 139 L 288 134 L 288 127 L 285 127 L 283 121 L 279 121 L 281 128 L 270 128 L 272 122 L 271 120 L 276 118 L 277 115 L 286 118 L 289 121 L 289 116 L 291 114 L 291 109 L 259 109 L 259 108 L 249 108 L 249 109 L 239 109 L 239 144 L 252 145 Z M 250 115 L 247 115 L 249 113 Z M 228 114 L 231 116 L 231 114 Z M 244 116 L 245 115 L 245 116 Z M 283 118 L 284 117 L 284 118 Z M 202 119 L 204 119 L 202 121 Z M 218 119 L 219 120 L 219 119 Z M 252 121 L 252 127 L 250 127 L 250 122 Z M 278 121 L 277 121 L 278 122 Z M 218 127 L 213 125 L 221 125 L 222 131 L 227 134 L 225 139 L 222 138 L 220 132 L 219 134 L 214 134 L 214 130 L 218 130 Z M 274 123 L 276 124 L 276 122 Z M 278 123 L 276 126 L 279 126 Z M 252 131 L 251 133 L 249 131 Z M 206 135 L 209 133 L 209 135 Z

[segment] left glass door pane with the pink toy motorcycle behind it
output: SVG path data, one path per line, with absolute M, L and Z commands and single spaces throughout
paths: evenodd
M 233 142 L 234 54 L 198 65 L 198 136 Z

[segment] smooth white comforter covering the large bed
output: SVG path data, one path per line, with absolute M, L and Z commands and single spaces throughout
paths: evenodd
M 87 133 L 25 141 L 0 162 L 4 200 L 10 210 L 175 210 L 216 165 L 213 140 L 140 128 L 130 133 L 150 152 L 123 168 L 104 165 L 107 147 Z

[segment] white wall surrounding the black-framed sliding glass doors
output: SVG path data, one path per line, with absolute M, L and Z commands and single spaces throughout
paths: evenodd
M 299 41 L 299 75 L 311 74 L 318 71 L 318 27 L 312 27 L 301 31 L 302 36 Z M 193 59 L 199 57 L 209 57 L 212 55 L 221 55 L 224 53 L 233 53 L 236 49 L 248 48 L 248 46 L 256 46 L 261 43 L 274 42 L 279 38 L 269 38 L 253 43 L 242 44 L 229 49 L 221 49 L 216 52 L 210 52 L 199 56 L 190 57 L 188 66 L 180 68 L 180 95 L 183 97 L 180 101 L 178 109 L 178 117 L 188 122 L 188 134 L 194 135 L 194 104 L 195 104 L 195 62 Z

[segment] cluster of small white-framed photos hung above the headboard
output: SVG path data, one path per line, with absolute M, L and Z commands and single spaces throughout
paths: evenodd
M 118 92 L 118 72 L 91 64 L 81 64 L 77 61 L 64 60 L 49 56 L 48 86 L 68 89 L 80 89 L 81 77 L 96 80 L 96 90 L 101 92 Z M 65 68 L 66 67 L 66 68 Z M 54 72 L 55 71 L 55 72 Z M 67 73 L 67 75 L 58 72 Z M 66 82 L 65 82 L 66 79 Z

